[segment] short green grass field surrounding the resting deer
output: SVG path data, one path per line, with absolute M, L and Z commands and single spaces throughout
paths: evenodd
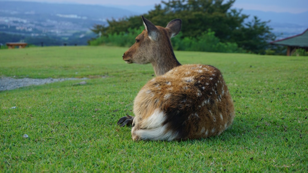
M 154 72 L 125 64 L 126 49 L 0 50 L 0 76 L 90 78 L 0 92 L 0 172 L 308 171 L 307 57 L 175 52 L 221 70 L 234 123 L 207 139 L 133 142 L 116 122 Z

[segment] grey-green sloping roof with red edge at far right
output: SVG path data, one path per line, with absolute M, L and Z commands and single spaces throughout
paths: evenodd
M 301 34 L 270 42 L 275 45 L 308 47 L 308 29 Z

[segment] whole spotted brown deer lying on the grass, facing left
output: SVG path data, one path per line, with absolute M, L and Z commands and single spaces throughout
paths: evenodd
M 142 16 L 145 29 L 123 55 L 126 63 L 152 63 L 157 77 L 139 91 L 133 116 L 118 125 L 132 124 L 132 139 L 187 140 L 220 135 L 233 122 L 234 107 L 221 72 L 211 65 L 181 65 L 170 38 L 181 29 L 174 19 L 166 28 Z

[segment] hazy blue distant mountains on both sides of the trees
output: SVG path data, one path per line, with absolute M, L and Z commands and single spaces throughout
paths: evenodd
M 151 6 L 99 6 L 0 0 L 0 32 L 31 36 L 79 37 L 91 33 L 95 24 L 107 25 L 107 19 L 119 19 L 147 13 Z M 280 37 L 302 33 L 308 28 L 308 12 L 300 14 L 243 10 L 242 14 L 271 20 L 269 26 Z M 140 25 L 141 25 L 140 21 Z M 92 33 L 93 34 L 93 33 Z M 93 35 L 92 35 L 93 36 Z M 67 39 L 67 38 L 66 38 Z M 85 43 L 86 44 L 86 43 Z

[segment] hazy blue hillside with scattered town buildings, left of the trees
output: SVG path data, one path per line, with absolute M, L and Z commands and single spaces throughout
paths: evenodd
M 90 31 L 95 24 L 107 25 L 107 19 L 136 14 L 98 5 L 0 1 L 0 43 L 14 40 L 35 45 L 86 45 L 95 37 Z

